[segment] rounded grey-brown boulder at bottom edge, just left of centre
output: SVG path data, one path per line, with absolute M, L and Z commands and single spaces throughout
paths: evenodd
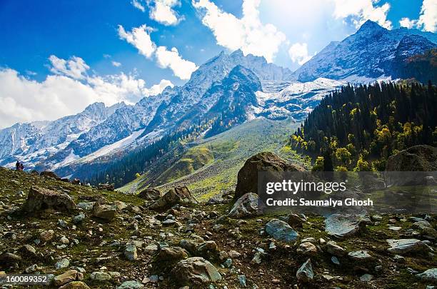
M 201 285 L 221 280 L 221 275 L 214 265 L 201 257 L 179 261 L 171 271 L 171 275 L 180 285 Z

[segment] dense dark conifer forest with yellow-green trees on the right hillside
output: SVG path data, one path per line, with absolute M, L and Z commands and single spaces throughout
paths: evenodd
M 398 151 L 437 145 L 436 108 L 431 81 L 343 86 L 309 113 L 290 143 L 313 158 L 314 171 L 383 171 Z

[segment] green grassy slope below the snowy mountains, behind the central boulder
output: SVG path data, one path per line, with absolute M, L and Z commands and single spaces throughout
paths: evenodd
M 164 173 L 154 176 L 153 186 L 158 185 L 161 191 L 173 186 L 188 186 L 195 196 L 207 200 L 217 193 L 233 190 L 243 163 L 261 151 L 273 151 L 282 158 L 306 166 L 296 153 L 283 147 L 286 138 L 299 125 L 289 120 L 256 119 L 217 136 L 190 143 L 190 148 L 174 158 Z M 139 191 L 151 185 L 151 173 L 147 172 L 120 191 Z

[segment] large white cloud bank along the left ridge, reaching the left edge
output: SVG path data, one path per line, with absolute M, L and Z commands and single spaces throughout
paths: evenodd
M 163 79 L 148 88 L 143 79 L 124 73 L 84 76 L 72 73 L 75 70 L 71 70 L 69 61 L 56 56 L 51 59 L 51 71 L 56 74 L 41 82 L 25 78 L 13 69 L 0 69 L 0 128 L 17 122 L 51 121 L 79 113 L 96 101 L 108 106 L 121 101 L 135 103 L 144 96 L 161 93 L 166 86 L 173 87 L 173 83 Z M 62 68 L 65 69 L 61 71 Z

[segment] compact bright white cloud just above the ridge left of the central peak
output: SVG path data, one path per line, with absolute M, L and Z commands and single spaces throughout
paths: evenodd
M 191 73 L 197 69 L 194 62 L 181 58 L 176 47 L 167 50 L 166 47 L 159 46 L 158 49 L 156 49 L 156 61 L 159 67 L 171 69 L 174 75 L 181 79 L 189 79 Z

